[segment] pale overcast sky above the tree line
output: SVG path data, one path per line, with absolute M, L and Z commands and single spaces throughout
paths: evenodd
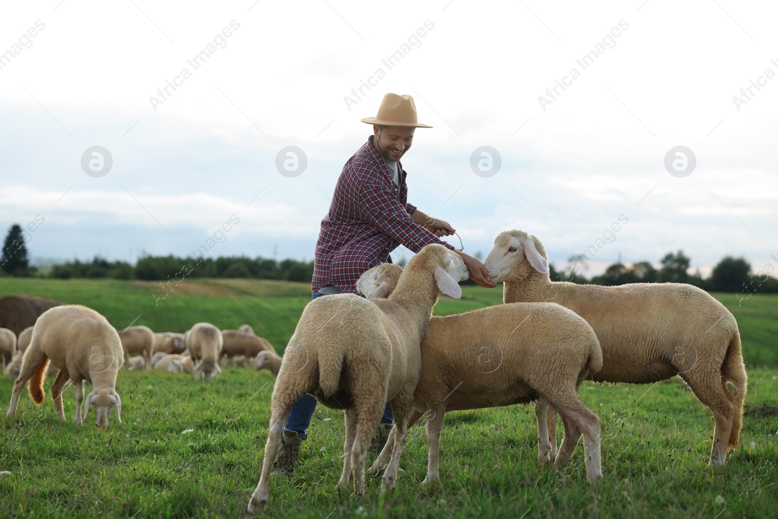
M 703 271 L 775 264 L 776 5 L 591 4 L 6 3 L 0 225 L 44 217 L 33 257 L 135 261 L 190 254 L 235 215 L 211 254 L 310 260 L 372 132 L 359 119 L 394 92 L 434 127 L 403 159 L 409 201 L 466 252 L 519 228 L 561 267 L 623 215 L 585 274 L 677 249 Z M 82 169 L 92 146 L 113 160 L 102 177 Z M 299 176 L 276 167 L 286 146 Z M 481 146 L 500 156 L 489 177 L 471 168 Z M 696 159 L 670 168 L 683 177 L 665 167 L 676 146 Z

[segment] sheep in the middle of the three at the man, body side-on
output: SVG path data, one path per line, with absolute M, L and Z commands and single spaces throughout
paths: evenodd
M 378 265 L 360 276 L 357 290 L 369 299 L 387 296 L 401 272 L 398 265 Z M 538 397 L 562 413 L 565 439 L 555 463 L 562 465 L 572 458 L 583 432 L 587 480 L 601 479 L 600 419 L 576 394 L 584 378 L 601 366 L 594 330 L 555 303 L 512 303 L 432 317 L 422 341 L 422 376 L 414 391 L 411 417 L 414 423 L 429 413 L 429 458 L 422 485 L 440 481 L 438 447 L 445 412 L 526 403 Z M 545 465 L 551 461 L 545 409 L 536 417 L 538 462 Z M 392 430 L 370 472 L 386 464 L 394 434 Z

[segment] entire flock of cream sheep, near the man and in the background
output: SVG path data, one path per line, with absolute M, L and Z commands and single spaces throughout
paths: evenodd
M 485 267 L 493 282 L 503 282 L 504 303 L 447 317 L 432 312 L 440 293 L 461 296 L 457 282 L 468 272 L 457 254 L 433 244 L 405 269 L 371 268 L 356 286 L 365 297 L 344 293 L 307 304 L 283 357 L 248 325 L 220 331 L 198 323 L 186 334 L 154 334 L 137 326 L 120 334 L 94 310 L 53 307 L 19 334 L 20 352 L 6 369 L 12 375 L 18 370 L 8 416 L 28 380 L 33 401 L 43 402 L 50 363 L 58 369 L 51 392 L 60 419 L 69 377 L 76 390 L 75 422 L 94 406 L 97 426 L 107 425 L 112 407 L 120 415 L 115 384 L 125 363 L 195 378 L 216 375 L 220 363 L 266 368 L 277 378 L 261 478 L 248 505 L 256 512 L 268 502 L 283 424 L 305 394 L 345 411 L 338 487 L 346 489 L 353 478 L 354 493 L 362 495 L 366 455 L 386 402 L 394 427 L 370 472 L 384 470 L 387 489 L 397 482 L 408 427 L 422 416 L 429 445 L 423 484 L 431 485 L 440 480 L 446 412 L 528 402 L 536 402 L 538 462 L 569 461 L 583 436 L 587 481 L 595 482 L 602 477 L 600 419 L 578 397 L 580 384 L 650 384 L 678 375 L 713 412 L 709 465 L 724 465 L 738 445 L 747 391 L 738 324 L 724 305 L 678 283 L 552 282 L 545 248 L 520 230 L 499 233 Z M 7 335 L 0 328 L 0 352 Z M 93 390 L 82 412 L 84 380 Z M 564 428 L 559 450 L 558 416 Z

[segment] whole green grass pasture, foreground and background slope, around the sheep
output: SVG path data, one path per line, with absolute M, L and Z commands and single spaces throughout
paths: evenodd
M 197 321 L 220 328 L 247 322 L 279 352 L 310 300 L 305 283 L 254 280 L 182 282 L 155 301 L 156 284 L 116 280 L 0 279 L 0 295 L 37 293 L 100 311 L 117 328 L 147 324 L 184 331 Z M 162 296 L 162 293 L 156 293 Z M 738 307 L 748 369 L 746 409 L 778 405 L 778 298 L 752 296 Z M 464 287 L 437 314 L 496 304 L 499 289 Z M 195 383 L 178 373 L 123 371 L 117 380 L 122 423 L 107 430 L 74 426 L 75 396 L 65 391 L 67 423 L 51 397 L 37 407 L 23 394 L 14 419 L 0 419 L 0 517 L 243 517 L 259 478 L 274 377 L 228 369 Z M 45 385 L 47 392 L 51 379 Z M 12 380 L 0 377 L 5 413 Z M 602 420 L 605 479 L 586 483 L 582 447 L 562 469 L 535 461 L 531 406 L 447 415 L 441 439 L 442 484 L 426 490 L 421 424 L 401 460 L 393 493 L 369 478 L 366 496 L 338 495 L 342 413 L 317 409 L 301 465 L 271 480 L 268 517 L 776 517 L 778 417 L 745 416 L 741 444 L 724 468 L 706 466 L 713 420 L 674 378 L 650 385 L 584 382 L 584 402 Z M 93 412 L 88 424 L 94 423 Z M 185 432 L 191 430 L 191 432 Z M 561 426 L 559 441 L 561 441 Z

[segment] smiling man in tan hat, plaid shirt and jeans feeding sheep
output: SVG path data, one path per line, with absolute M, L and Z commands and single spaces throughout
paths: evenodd
M 377 116 L 362 121 L 373 124 L 373 135 L 345 163 L 329 212 L 321 220 L 314 255 L 312 299 L 334 293 L 356 293 L 359 275 L 391 261 L 389 253 L 400 244 L 413 252 L 419 252 L 427 244 L 443 244 L 456 251 L 454 246 L 438 239 L 453 234 L 454 228 L 407 202 L 406 173 L 400 159 L 411 148 L 415 128 L 432 128 L 419 124 L 413 98 L 387 93 Z M 481 286 L 496 286 L 489 281 L 489 273 L 478 258 L 456 252 L 464 260 L 470 279 Z M 274 470 L 294 471 L 316 404 L 316 398 L 304 395 L 292 408 Z M 387 403 L 377 431 L 378 440 L 371 451 L 383 448 L 391 423 L 391 405 Z

